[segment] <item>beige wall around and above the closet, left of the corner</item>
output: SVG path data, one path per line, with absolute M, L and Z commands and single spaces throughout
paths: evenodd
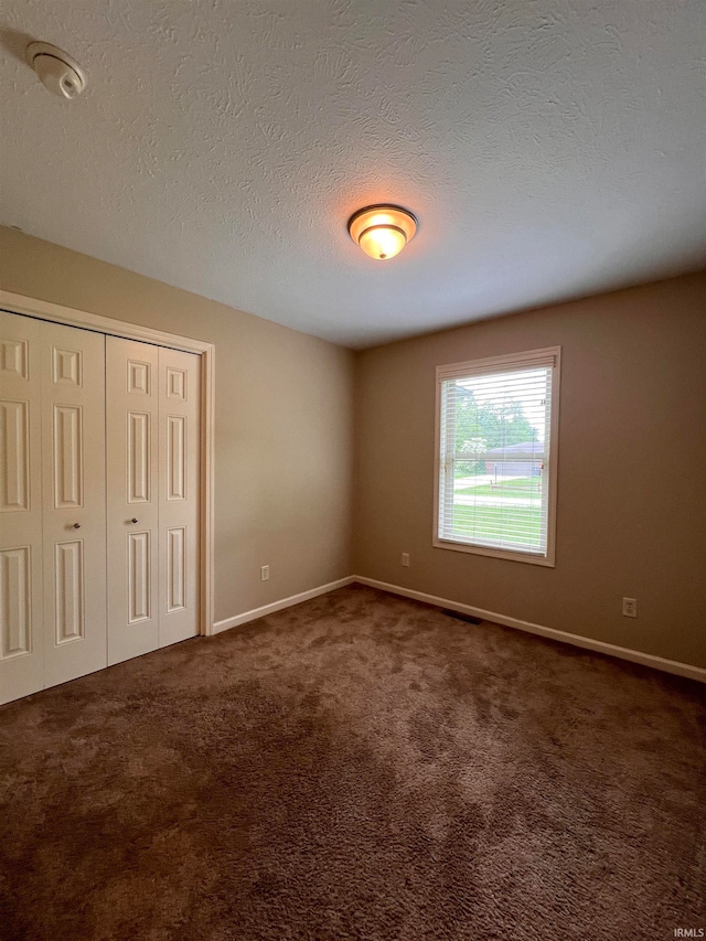
M 0 287 L 215 343 L 216 620 L 350 575 L 353 353 L 9 228 Z

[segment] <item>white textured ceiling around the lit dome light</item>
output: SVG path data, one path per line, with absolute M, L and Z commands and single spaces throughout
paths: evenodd
M 0 221 L 242 310 L 365 346 L 706 261 L 703 0 L 3 10 Z M 381 201 L 387 263 L 345 227 Z

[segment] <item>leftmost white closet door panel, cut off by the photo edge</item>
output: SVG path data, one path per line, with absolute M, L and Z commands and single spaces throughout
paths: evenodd
M 0 704 L 44 686 L 40 328 L 0 311 Z

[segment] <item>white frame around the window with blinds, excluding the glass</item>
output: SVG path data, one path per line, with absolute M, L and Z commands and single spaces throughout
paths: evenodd
M 442 383 L 459 377 L 471 377 L 482 373 L 513 372 L 533 366 L 552 365 L 552 403 L 549 410 L 549 456 L 545 460 L 549 478 L 547 492 L 547 546 L 546 554 L 528 553 L 515 549 L 495 548 L 494 546 L 474 545 L 440 536 L 440 495 L 442 481 L 441 461 L 441 405 Z M 523 353 L 509 353 L 502 356 L 488 356 L 481 360 L 468 360 L 461 363 L 450 363 L 436 368 L 436 405 L 435 405 L 435 458 L 434 458 L 434 530 L 431 544 L 435 548 L 451 549 L 452 552 L 472 553 L 473 555 L 490 556 L 509 562 L 522 562 L 530 565 L 556 567 L 556 506 L 557 506 L 557 468 L 558 468 L 558 430 L 559 430 L 559 389 L 561 379 L 561 347 L 545 346 Z

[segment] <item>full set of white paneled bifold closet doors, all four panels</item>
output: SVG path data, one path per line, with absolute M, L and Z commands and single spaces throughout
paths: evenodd
M 200 356 L 0 311 L 0 703 L 199 633 Z

